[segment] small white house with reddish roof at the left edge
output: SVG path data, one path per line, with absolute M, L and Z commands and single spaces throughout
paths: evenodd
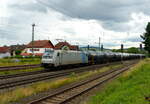
M 9 47 L 0 47 L 0 58 L 10 57 L 10 48 Z

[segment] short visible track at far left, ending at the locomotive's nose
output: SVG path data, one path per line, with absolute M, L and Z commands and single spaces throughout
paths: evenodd
M 40 67 L 40 66 L 41 66 L 41 64 L 17 65 L 17 66 L 3 66 L 3 67 L 0 67 L 0 72 L 2 72 L 2 71 L 10 71 L 10 70 L 22 70 L 22 69 L 37 68 L 37 67 Z

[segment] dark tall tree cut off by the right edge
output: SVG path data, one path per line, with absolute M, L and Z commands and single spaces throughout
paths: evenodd
M 144 49 L 150 54 L 150 22 L 148 22 L 145 31 L 146 32 L 141 35 L 141 38 L 143 39 L 143 44 L 145 45 Z

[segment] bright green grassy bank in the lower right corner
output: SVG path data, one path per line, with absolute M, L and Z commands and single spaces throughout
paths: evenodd
M 150 59 L 145 59 L 92 96 L 86 104 L 149 104 Z

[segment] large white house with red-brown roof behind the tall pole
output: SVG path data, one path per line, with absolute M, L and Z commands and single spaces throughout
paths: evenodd
M 33 45 L 33 50 L 32 50 Z M 37 40 L 34 41 L 33 44 L 30 42 L 24 51 L 21 53 L 22 56 L 42 56 L 46 50 L 54 49 L 54 45 L 50 40 Z M 33 52 L 33 54 L 32 54 Z

